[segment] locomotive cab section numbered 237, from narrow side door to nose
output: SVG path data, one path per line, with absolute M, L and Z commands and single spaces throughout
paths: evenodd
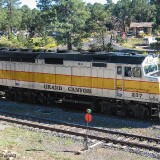
M 125 115 L 127 106 L 129 112 L 136 117 L 159 116 L 160 71 L 158 57 L 131 55 L 127 58 L 135 59 L 134 63 L 127 60 L 125 63 L 116 64 L 117 114 Z

